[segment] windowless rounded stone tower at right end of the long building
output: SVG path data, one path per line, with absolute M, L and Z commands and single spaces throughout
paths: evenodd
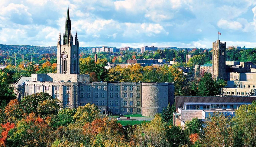
M 168 83 L 142 82 L 141 115 L 154 116 L 168 105 Z

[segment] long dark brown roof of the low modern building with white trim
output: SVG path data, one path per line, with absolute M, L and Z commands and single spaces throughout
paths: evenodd
M 175 96 L 176 111 L 184 103 L 251 103 L 256 96 Z

